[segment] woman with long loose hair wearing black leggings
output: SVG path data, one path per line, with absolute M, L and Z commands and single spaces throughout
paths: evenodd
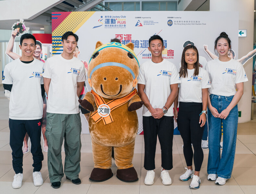
M 188 45 L 184 48 L 179 76 L 181 83 L 179 83 L 178 95 L 174 102 L 174 119 L 183 139 L 183 153 L 188 166 L 185 168 L 187 171 L 179 179 L 187 181 L 192 178 L 189 187 L 198 189 L 201 183 L 199 173 L 203 162 L 201 139 L 206 122 L 208 88 L 211 87 L 211 82 L 207 71 L 200 67 L 198 50 L 195 46 Z M 177 113 L 178 102 L 179 112 Z M 192 167 L 193 155 L 195 170 Z

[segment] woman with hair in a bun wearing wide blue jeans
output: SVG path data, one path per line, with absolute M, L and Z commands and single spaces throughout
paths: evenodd
M 211 80 L 208 98 L 209 157 L 208 180 L 224 185 L 231 178 L 234 165 L 238 102 L 243 95 L 243 82 L 248 81 L 242 64 L 228 57 L 231 41 L 225 32 L 215 40 L 219 58 L 209 61 L 206 70 Z M 221 122 L 223 123 L 223 150 L 220 156 Z

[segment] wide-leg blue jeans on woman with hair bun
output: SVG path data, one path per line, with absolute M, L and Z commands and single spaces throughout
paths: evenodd
M 221 113 L 230 104 L 234 96 L 210 95 L 211 104 Z M 223 123 L 223 149 L 220 156 L 221 140 L 221 122 Z M 234 165 L 237 125 L 238 125 L 238 107 L 237 105 L 229 112 L 226 119 L 215 118 L 211 111 L 208 111 L 208 146 L 209 157 L 207 165 L 208 174 L 217 174 L 218 177 L 231 178 Z

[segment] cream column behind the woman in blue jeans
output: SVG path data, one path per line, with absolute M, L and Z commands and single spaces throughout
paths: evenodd
M 239 48 L 236 59 L 253 50 L 254 0 L 211 0 L 210 11 L 238 11 L 239 29 L 247 29 L 247 37 L 238 38 Z M 248 122 L 251 117 L 252 58 L 244 64 L 244 69 L 249 81 L 244 83 L 244 94 L 238 103 L 238 111 L 241 111 L 238 123 Z

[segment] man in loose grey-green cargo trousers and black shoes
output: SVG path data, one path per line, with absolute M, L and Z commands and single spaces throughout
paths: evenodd
M 62 36 L 63 52 L 46 60 L 43 80 L 47 99 L 47 124 L 45 136 L 48 141 L 48 171 L 52 187 L 60 187 L 66 178 L 80 184 L 81 120 L 78 97 L 85 79 L 84 64 L 73 57 L 78 36 L 66 32 Z M 64 138 L 64 173 L 61 146 Z

